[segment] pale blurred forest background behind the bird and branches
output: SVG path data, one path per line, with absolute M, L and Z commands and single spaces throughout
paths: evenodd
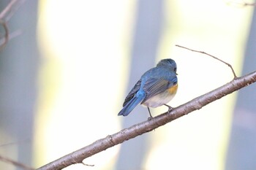
M 172 107 L 233 79 L 225 64 L 175 45 L 217 56 L 239 76 L 254 71 L 255 7 L 244 5 L 252 2 L 26 0 L 8 22 L 21 34 L 0 51 L 0 155 L 39 167 L 147 120 L 140 106 L 117 114 L 162 58 L 178 65 Z M 83 161 L 92 167 L 67 169 L 256 169 L 255 88 Z M 0 169 L 18 168 L 0 161 Z

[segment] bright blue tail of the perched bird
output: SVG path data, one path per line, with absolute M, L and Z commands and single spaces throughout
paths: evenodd
M 132 112 L 132 109 L 134 109 L 140 101 L 143 100 L 145 97 L 144 94 L 136 93 L 135 96 L 121 109 L 121 111 L 118 113 L 118 116 L 127 116 L 130 112 Z

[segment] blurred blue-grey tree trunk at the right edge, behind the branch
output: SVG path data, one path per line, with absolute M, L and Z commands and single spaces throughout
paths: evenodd
M 256 12 L 254 11 L 247 40 L 242 75 L 256 66 Z M 256 169 L 256 85 L 239 90 L 233 113 L 227 170 Z

